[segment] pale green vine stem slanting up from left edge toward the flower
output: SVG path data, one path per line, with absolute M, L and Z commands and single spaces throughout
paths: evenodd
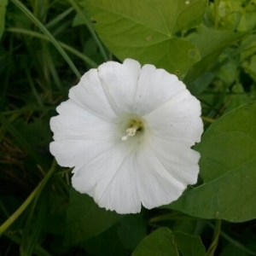
M 20 214 L 26 210 L 26 207 L 30 205 L 30 203 L 42 191 L 42 189 L 44 189 L 45 184 L 48 182 L 49 178 L 55 172 L 55 167 L 56 167 L 56 161 L 54 160 L 52 166 L 49 169 L 49 172 L 47 172 L 44 179 L 40 183 L 38 183 L 37 188 L 32 191 L 32 193 L 26 198 L 26 201 L 24 201 L 24 203 L 16 210 L 16 212 L 14 212 L 13 215 L 10 216 L 0 226 L 0 236 L 4 233 L 5 230 L 9 228 L 11 224 L 15 222 L 15 219 L 17 219 L 20 216 Z

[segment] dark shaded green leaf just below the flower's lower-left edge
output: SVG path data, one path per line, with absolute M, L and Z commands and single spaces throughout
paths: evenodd
M 98 207 L 89 195 L 80 194 L 71 188 L 65 243 L 74 245 L 92 236 L 97 236 L 108 230 L 122 217 L 123 215 L 116 212 Z

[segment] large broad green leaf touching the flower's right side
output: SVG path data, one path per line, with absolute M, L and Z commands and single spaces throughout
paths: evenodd
M 166 207 L 231 222 L 256 218 L 256 102 L 215 121 L 196 150 L 204 183 Z

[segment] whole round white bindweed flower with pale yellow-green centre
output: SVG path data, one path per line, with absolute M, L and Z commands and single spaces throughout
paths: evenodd
M 136 213 L 177 200 L 195 184 L 201 104 L 164 69 L 126 59 L 90 69 L 50 119 L 49 149 L 74 167 L 72 184 L 99 207 Z

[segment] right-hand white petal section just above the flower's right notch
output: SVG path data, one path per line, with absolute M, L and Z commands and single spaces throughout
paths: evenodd
M 154 135 L 189 140 L 192 146 L 201 141 L 203 123 L 200 115 L 200 102 L 189 90 L 182 90 L 143 118 Z

